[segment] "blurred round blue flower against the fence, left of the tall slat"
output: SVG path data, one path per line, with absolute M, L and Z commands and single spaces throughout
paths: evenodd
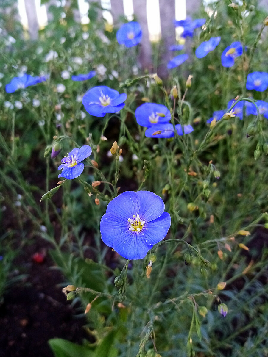
M 142 40 L 142 27 L 140 27 L 139 22 L 127 22 L 116 32 L 116 39 L 120 45 L 136 46 Z

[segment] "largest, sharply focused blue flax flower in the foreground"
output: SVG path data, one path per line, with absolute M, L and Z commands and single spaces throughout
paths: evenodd
M 167 235 L 171 218 L 161 197 L 126 191 L 108 203 L 100 221 L 101 239 L 126 259 L 142 259 Z

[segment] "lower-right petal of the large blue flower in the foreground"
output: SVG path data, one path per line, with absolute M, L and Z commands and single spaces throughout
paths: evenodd
M 170 223 L 171 217 L 168 212 L 163 212 L 162 215 L 154 221 L 145 222 L 140 232 L 144 243 L 154 245 L 162 241 L 168 233 Z

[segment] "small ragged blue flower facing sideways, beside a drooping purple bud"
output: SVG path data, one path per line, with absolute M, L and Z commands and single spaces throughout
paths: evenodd
M 84 170 L 84 164 L 81 163 L 84 159 L 89 157 L 92 150 L 89 145 L 84 145 L 79 149 L 75 147 L 71 152 L 69 152 L 67 157 L 64 157 L 58 170 L 63 169 L 59 177 L 68 178 L 68 180 L 73 180 L 74 178 L 80 176 Z

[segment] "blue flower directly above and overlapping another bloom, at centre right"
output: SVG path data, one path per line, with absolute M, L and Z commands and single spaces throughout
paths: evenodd
M 137 123 L 150 127 L 155 124 L 166 123 L 171 119 L 170 111 L 163 104 L 144 103 L 135 110 Z

